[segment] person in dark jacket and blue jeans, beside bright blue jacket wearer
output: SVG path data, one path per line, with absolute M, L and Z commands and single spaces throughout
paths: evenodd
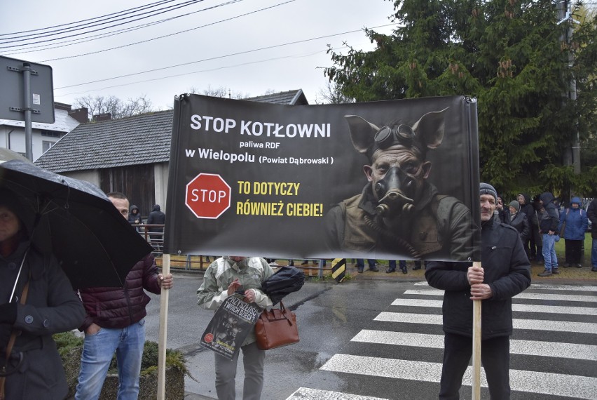
M 558 257 L 556 255 L 556 241 L 560 240 L 560 236 L 558 236 L 560 214 L 556 204 L 554 204 L 554 195 L 550 192 L 542 193 L 539 196 L 539 201 L 543 206 L 539 218 L 539 229 L 543 242 L 545 269 L 538 276 L 551 276 L 560 273 L 558 272 Z

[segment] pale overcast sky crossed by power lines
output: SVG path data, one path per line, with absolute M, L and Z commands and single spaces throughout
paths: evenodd
M 193 4 L 180 7 L 187 3 Z M 331 65 L 327 44 L 343 52 L 343 42 L 371 50 L 362 28 L 379 27 L 374 30 L 390 33 L 393 27 L 389 20 L 393 2 L 387 0 L 163 0 L 145 11 L 131 10 L 148 4 L 153 2 L 3 1 L 0 55 L 50 65 L 54 100 L 68 104 L 84 95 L 116 95 L 122 100 L 146 95 L 156 109 L 168 109 L 174 95 L 191 88 L 202 93 L 208 86 L 248 96 L 300 88 L 315 104 L 327 81 L 323 68 Z M 64 25 L 127 10 L 129 17 L 133 11 L 156 13 L 170 6 L 179 8 L 134 22 L 112 20 L 86 30 Z M 167 18 L 173 19 L 155 23 Z M 149 23 L 153 25 L 113 34 Z M 116 24 L 121 25 L 89 32 Z M 74 29 L 60 36 L 78 36 L 48 41 L 60 36 L 47 36 L 47 30 L 14 34 L 58 25 L 64 26 L 53 29 Z M 6 43 L 8 37 L 44 32 L 45 37 L 36 39 L 44 41 L 39 44 L 29 44 L 31 40 L 24 37 Z M 165 37 L 156 39 L 160 36 Z M 85 42 L 65 46 L 67 40 Z M 144 43 L 135 44 L 140 41 Z M 27 50 L 33 46 L 46 47 Z

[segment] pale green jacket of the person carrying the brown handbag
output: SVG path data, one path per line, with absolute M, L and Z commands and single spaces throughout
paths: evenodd
M 263 258 L 245 258 L 234 262 L 227 256 L 218 258 L 203 275 L 203 284 L 197 289 L 197 304 L 205 309 L 216 310 L 228 298 L 228 286 L 238 278 L 240 290 L 253 289 L 255 302 L 265 308 L 273 305 L 272 300 L 261 291 L 261 283 L 273 275 L 273 270 Z M 248 345 L 255 341 L 252 331 L 242 344 Z

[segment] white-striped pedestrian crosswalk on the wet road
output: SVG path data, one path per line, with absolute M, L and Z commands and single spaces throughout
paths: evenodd
M 364 321 L 366 328 L 317 372 L 364 384 L 301 387 L 287 400 L 437 398 L 443 295 L 425 282 L 415 284 Z M 533 284 L 513 299 L 512 309 L 512 399 L 597 399 L 597 286 Z M 470 399 L 471 377 L 469 367 L 462 399 Z M 487 387 L 482 368 L 481 387 Z M 481 397 L 489 398 L 486 389 Z

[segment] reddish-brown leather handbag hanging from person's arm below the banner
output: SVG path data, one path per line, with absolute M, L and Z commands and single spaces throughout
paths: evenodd
M 299 327 L 296 325 L 296 314 L 284 307 L 266 309 L 261 312 L 255 324 L 257 347 L 262 350 L 275 349 L 299 342 Z

